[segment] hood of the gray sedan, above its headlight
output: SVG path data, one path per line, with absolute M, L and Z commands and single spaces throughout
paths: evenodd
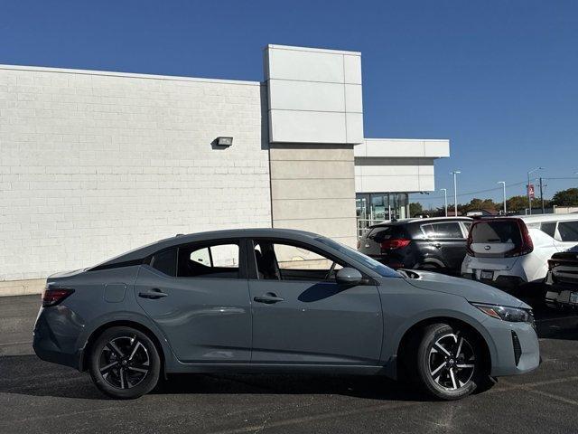
M 530 308 L 523 301 L 500 291 L 498 288 L 468 278 L 453 278 L 452 276 L 415 269 L 400 271 L 405 275 L 406 282 L 415 288 L 461 296 L 471 303 Z

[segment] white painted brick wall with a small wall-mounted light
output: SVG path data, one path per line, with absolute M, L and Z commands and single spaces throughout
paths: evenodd
M 271 226 L 258 82 L 0 67 L 0 280 Z M 219 136 L 233 146 L 214 149 Z

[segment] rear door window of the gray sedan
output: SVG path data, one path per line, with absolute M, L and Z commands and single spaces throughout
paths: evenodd
M 238 278 L 237 242 L 195 244 L 179 248 L 179 278 Z

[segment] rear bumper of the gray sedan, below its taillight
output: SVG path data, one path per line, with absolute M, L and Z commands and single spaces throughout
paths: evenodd
M 62 309 L 67 308 L 63 306 L 41 307 L 34 325 L 33 350 L 46 362 L 79 369 L 80 352 L 76 349 L 79 326 L 70 321 L 63 321 L 63 318 L 69 319 L 70 316 L 63 316 L 58 312 L 58 310 L 62 312 Z M 60 321 L 51 320 L 52 316 L 58 316 Z

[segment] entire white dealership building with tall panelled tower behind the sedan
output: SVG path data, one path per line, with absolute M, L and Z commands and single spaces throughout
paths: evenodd
M 180 232 L 353 244 L 356 197 L 405 216 L 449 142 L 364 138 L 361 95 L 359 52 L 279 45 L 264 81 L 0 66 L 0 295 Z

